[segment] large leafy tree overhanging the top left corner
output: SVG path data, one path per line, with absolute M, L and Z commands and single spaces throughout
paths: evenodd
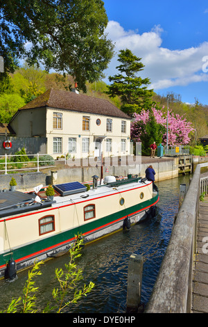
M 101 0 L 3 0 L 0 4 L 0 56 L 6 71 L 11 58 L 71 74 L 78 87 L 98 80 L 113 56 Z M 30 45 L 30 47 L 25 47 Z

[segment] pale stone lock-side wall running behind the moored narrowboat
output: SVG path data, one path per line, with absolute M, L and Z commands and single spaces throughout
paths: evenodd
M 178 176 L 178 168 L 175 159 L 160 160 L 155 159 L 153 162 L 135 163 L 129 166 L 103 166 L 103 177 L 107 175 L 127 176 L 128 174 L 145 177 L 146 168 L 152 164 L 155 169 L 155 182 L 168 180 Z M 57 167 L 58 168 L 58 167 Z M 66 182 L 89 182 L 92 181 L 93 175 L 101 176 L 101 167 L 67 167 L 60 166 L 57 171 L 51 172 L 48 168 L 44 173 L 19 173 L 0 175 L 0 189 L 9 189 L 11 177 L 17 181 L 17 189 L 28 190 L 43 184 L 62 184 Z

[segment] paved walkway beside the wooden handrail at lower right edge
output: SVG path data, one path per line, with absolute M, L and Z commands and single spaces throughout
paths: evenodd
M 193 264 L 192 312 L 208 313 L 208 197 L 200 201 L 197 248 Z

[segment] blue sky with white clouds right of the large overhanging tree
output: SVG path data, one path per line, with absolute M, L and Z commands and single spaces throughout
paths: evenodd
M 117 55 L 130 49 L 145 65 L 155 93 L 175 93 L 182 102 L 208 105 L 208 0 L 103 0 L 106 33 L 115 56 L 105 83 L 119 71 Z

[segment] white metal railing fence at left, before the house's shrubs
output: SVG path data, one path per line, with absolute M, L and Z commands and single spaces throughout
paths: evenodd
M 43 168 L 50 168 L 55 166 L 55 159 L 49 157 L 50 154 L 5 154 L 0 156 L 0 172 L 8 174 L 12 171 L 21 170 L 35 170 L 39 172 Z M 9 159 L 12 157 L 12 161 Z M 20 157 L 21 161 L 15 161 L 15 157 Z M 26 157 L 32 157 L 29 161 L 24 161 Z M 44 157 L 46 159 L 44 159 Z M 62 154 L 64 163 L 67 162 L 67 154 Z M 47 159 L 48 158 L 48 159 Z M 36 160 L 35 160 L 36 159 Z M 44 165 L 45 163 L 45 165 Z M 12 168 L 15 166 L 15 168 Z M 24 168 L 19 168 L 19 166 L 24 166 Z M 3 169 L 1 169 L 3 167 Z

